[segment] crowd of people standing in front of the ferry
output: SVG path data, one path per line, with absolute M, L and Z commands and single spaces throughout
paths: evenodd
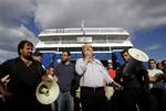
M 166 60 L 149 58 L 145 67 L 124 49 L 124 64 L 116 68 L 96 59 L 87 43 L 81 52 L 75 63 L 64 51 L 58 65 L 44 67 L 42 53 L 33 53 L 32 42 L 21 41 L 18 57 L 0 64 L 0 111 L 166 111 Z M 43 80 L 60 87 L 50 104 L 35 97 Z

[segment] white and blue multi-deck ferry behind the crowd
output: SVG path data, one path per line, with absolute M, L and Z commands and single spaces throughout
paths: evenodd
M 121 62 L 120 52 L 133 47 L 129 33 L 122 27 L 70 27 L 46 29 L 39 34 L 35 49 L 43 53 L 42 64 L 45 67 L 58 64 L 64 49 L 71 52 L 71 60 L 82 57 L 81 47 L 90 43 L 94 57 L 102 60 Z

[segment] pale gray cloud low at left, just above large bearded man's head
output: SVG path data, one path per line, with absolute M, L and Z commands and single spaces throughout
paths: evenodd
M 27 30 L 23 25 L 17 29 L 0 27 L 0 47 L 7 51 L 17 51 L 18 42 L 21 40 L 29 40 L 37 44 L 35 35 Z

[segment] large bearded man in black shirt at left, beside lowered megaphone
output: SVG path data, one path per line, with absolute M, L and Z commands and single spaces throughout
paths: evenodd
M 32 58 L 33 44 L 21 41 L 19 57 L 8 59 L 0 66 L 0 78 L 9 75 L 7 88 L 0 81 L 0 93 L 8 102 L 8 111 L 50 111 L 51 106 L 41 104 L 35 98 L 35 89 L 41 80 L 49 80 L 40 62 Z

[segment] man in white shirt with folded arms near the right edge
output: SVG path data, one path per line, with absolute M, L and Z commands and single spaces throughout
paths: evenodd
M 148 77 L 149 77 L 149 89 L 154 96 L 153 102 L 156 107 L 157 111 L 165 111 L 165 97 L 164 90 L 165 85 L 163 82 L 164 73 L 160 69 L 156 68 L 156 60 L 149 59 L 148 60 Z

